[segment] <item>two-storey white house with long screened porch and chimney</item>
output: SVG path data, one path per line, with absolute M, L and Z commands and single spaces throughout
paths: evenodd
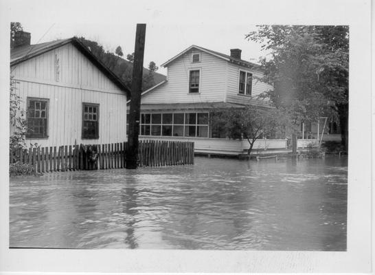
M 269 107 L 268 100 L 258 98 L 272 89 L 260 81 L 260 65 L 242 60 L 239 49 L 227 55 L 192 45 L 162 66 L 167 68 L 167 80 L 141 96 L 141 139 L 194 141 L 198 153 L 238 155 L 249 148 L 247 140 L 228 140 L 210 129 L 208 116 L 216 108 Z M 310 137 L 299 146 L 312 142 L 314 136 Z M 263 139 L 253 149 L 286 147 L 285 138 Z

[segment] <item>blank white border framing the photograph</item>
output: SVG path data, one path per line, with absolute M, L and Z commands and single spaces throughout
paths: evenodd
M 204 1 L 204 0 L 201 0 Z M 211 1 L 225 5 L 226 12 L 236 12 L 238 21 L 225 22 L 225 14 L 204 14 L 189 17 L 183 8 L 201 1 L 137 1 L 145 7 L 157 3 L 164 9 L 163 19 L 139 14 L 137 22 L 128 23 L 221 23 L 236 24 L 306 24 L 350 25 L 350 120 L 348 173 L 348 251 L 347 252 L 266 252 L 266 251 L 204 251 L 204 250 L 24 250 L 8 249 L 9 186 L 8 186 L 8 120 L 1 120 L 0 189 L 0 273 L 25 272 L 323 272 L 369 273 L 372 250 L 372 110 L 371 110 L 371 1 L 338 0 L 265 0 Z M 1 118 L 8 118 L 9 89 L 9 23 L 21 21 L 14 17 L 14 3 L 0 0 L 0 83 Z M 38 6 L 47 1 L 35 1 Z M 48 1 L 50 2 L 50 1 Z M 71 2 L 73 3 L 73 2 Z M 70 3 L 70 4 L 71 4 Z M 125 4 L 126 3 L 126 4 Z M 124 2 L 130 9 L 135 1 Z M 177 6 L 177 4 L 179 6 Z M 120 1 L 87 1 L 88 5 L 120 5 Z M 69 3 L 67 3 L 69 5 Z M 248 9 L 241 7 L 245 5 Z M 48 5 L 51 6 L 51 5 Z M 72 5 L 73 8 L 73 5 Z M 30 12 L 38 12 L 32 10 Z M 126 9 L 124 10 L 126 14 Z M 166 15 L 170 15 L 170 17 Z M 124 15 L 125 16 L 125 15 Z M 75 20 L 69 18 L 67 20 Z M 95 20 L 95 18 L 93 18 Z M 98 19 L 100 20 L 100 19 Z M 124 19 L 126 20 L 126 19 Z M 157 22 L 155 22 L 157 21 Z M 89 23 L 89 22 L 87 22 Z M 147 36 L 147 32 L 146 32 Z M 223 38 L 225 39 L 225 38 Z

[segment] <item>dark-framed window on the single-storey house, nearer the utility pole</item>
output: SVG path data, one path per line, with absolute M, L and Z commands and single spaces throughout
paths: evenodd
M 82 139 L 99 138 L 99 104 L 82 103 Z

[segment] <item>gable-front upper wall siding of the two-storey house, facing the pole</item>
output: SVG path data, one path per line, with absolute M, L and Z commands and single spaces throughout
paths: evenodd
M 142 104 L 224 101 L 227 61 L 201 52 L 201 62 L 192 63 L 192 52 L 168 67 L 168 82 L 142 96 Z M 199 94 L 189 94 L 189 70 L 201 69 Z

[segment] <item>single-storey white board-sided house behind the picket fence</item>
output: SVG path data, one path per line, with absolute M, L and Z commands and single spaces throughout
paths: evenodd
M 10 72 L 26 111 L 27 145 L 126 140 L 129 90 L 78 39 L 30 45 L 30 33 L 21 32 Z

